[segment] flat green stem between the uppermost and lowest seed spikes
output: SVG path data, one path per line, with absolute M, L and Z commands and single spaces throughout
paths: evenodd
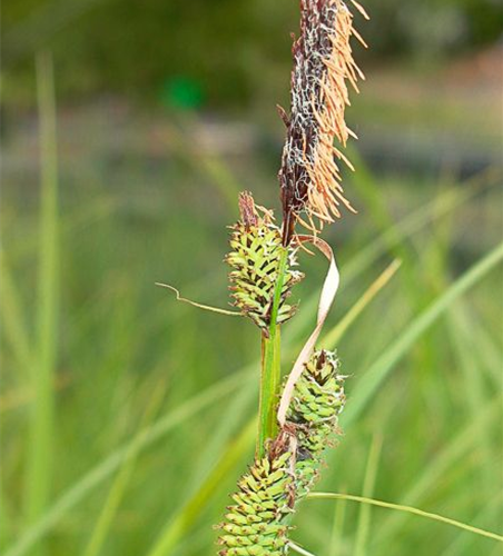
M 288 249 L 282 250 L 279 259 L 278 280 L 274 290 L 273 307 L 270 310 L 270 325 L 268 336 L 262 337 L 262 373 L 260 373 L 260 400 L 257 436 L 257 458 L 264 457 L 266 443 L 275 438 L 278 431 L 276 406 L 282 378 L 280 344 L 282 332 L 277 322 L 282 290 L 285 284 L 285 272 L 288 262 Z

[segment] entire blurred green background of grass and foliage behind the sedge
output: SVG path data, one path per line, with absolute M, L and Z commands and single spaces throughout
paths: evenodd
M 502 7 L 366 8 L 367 81 L 347 113 L 358 215 L 326 230 L 343 279 L 326 346 L 348 404 L 318 489 L 501 534 Z M 278 209 L 275 105 L 288 106 L 297 28 L 295 0 L 3 2 L 6 556 L 216 552 L 211 525 L 253 454 L 259 337 L 154 282 L 227 306 L 238 191 Z M 325 272 L 305 255 L 302 267 L 285 371 Z M 317 556 L 501 554 L 354 503 L 305 502 L 295 523 Z

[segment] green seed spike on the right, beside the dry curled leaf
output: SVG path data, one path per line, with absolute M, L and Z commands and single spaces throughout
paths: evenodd
M 316 351 L 295 385 L 287 413 L 287 426 L 297 441 L 295 474 L 297 500 L 305 496 L 318 476 L 325 448 L 337 431 L 344 409 L 343 378 L 335 354 Z

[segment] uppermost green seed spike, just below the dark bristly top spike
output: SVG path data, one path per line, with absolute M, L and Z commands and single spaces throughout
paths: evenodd
M 234 305 L 259 328 L 267 330 L 285 249 L 282 245 L 282 232 L 267 212 L 264 217 L 258 216 L 249 193 L 240 195 L 239 210 L 241 220 L 231 227 L 231 251 L 226 257 L 233 268 L 229 278 Z M 285 322 L 294 316 L 296 306 L 288 305 L 286 300 L 292 287 L 304 277 L 302 272 L 292 270 L 297 265 L 297 250 L 287 249 L 278 322 Z

